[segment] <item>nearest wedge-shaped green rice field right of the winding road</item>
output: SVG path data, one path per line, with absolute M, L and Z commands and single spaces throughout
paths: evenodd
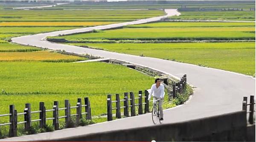
M 73 43 L 103 50 L 163 58 L 255 75 L 255 42 L 216 43 Z

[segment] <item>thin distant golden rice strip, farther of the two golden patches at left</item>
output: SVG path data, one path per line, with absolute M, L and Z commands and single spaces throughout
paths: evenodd
M 0 26 L 96 26 L 117 22 L 0 22 Z

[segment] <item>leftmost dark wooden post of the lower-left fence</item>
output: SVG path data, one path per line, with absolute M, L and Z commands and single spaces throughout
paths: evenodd
M 10 123 L 12 123 L 9 126 L 9 136 L 13 137 L 13 136 L 17 136 L 17 110 L 15 110 L 15 106 L 14 105 L 10 105 Z

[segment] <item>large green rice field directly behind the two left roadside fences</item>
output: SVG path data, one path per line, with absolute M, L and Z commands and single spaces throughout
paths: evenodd
M 71 106 L 76 106 L 77 98 L 89 97 L 94 122 L 106 121 L 107 94 L 134 92 L 150 88 L 154 78 L 141 74 L 121 65 L 106 63 L 46 63 L 46 62 L 0 62 L 3 72 L 0 74 L 0 86 L 7 95 L 0 95 L 0 114 L 9 112 L 9 105 L 14 104 L 17 112 L 23 112 L 25 103 L 31 103 L 32 111 L 39 109 L 39 102 L 45 102 L 47 109 L 52 109 L 53 101 L 59 101 L 59 107 L 64 107 L 64 100 L 70 100 Z M 168 103 L 165 96 L 164 108 L 175 106 Z M 84 102 L 84 100 L 83 100 Z M 84 110 L 83 110 L 84 111 Z M 75 114 L 72 109 L 71 114 Z M 114 112 L 113 112 L 114 113 Z M 138 113 L 138 112 L 137 112 Z M 64 111 L 59 112 L 63 116 Z M 47 112 L 47 118 L 52 112 Z M 32 120 L 38 119 L 38 114 L 32 114 Z M 9 117 L 1 117 L 0 123 L 6 123 Z M 18 117 L 18 122 L 23 117 Z M 52 121 L 47 121 L 51 125 Z M 60 119 L 61 128 L 64 119 Z M 36 123 L 33 123 L 36 126 Z M 18 125 L 19 135 L 23 135 L 23 125 Z M 3 135 L 8 134 L 8 127 L 1 127 Z

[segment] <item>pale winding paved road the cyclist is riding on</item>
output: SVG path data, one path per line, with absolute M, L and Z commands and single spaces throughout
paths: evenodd
M 93 56 L 123 60 L 134 64 L 151 67 L 156 70 L 166 72 L 170 75 L 174 75 L 177 78 L 180 78 L 183 74 L 187 74 L 187 81 L 193 86 L 197 87 L 195 89 L 194 96 L 184 105 L 165 110 L 164 123 L 177 123 L 185 120 L 193 120 L 197 118 L 240 111 L 242 109 L 243 96 L 249 97 L 250 95 L 255 94 L 255 78 L 250 76 L 234 72 L 227 72 L 224 70 L 199 67 L 192 64 L 167 61 L 158 58 L 140 57 L 134 55 L 112 53 L 104 50 L 95 50 L 71 45 L 61 45 L 57 43 L 50 43 L 44 40 L 47 36 L 79 33 L 91 31 L 93 29 L 115 28 L 131 24 L 140 24 L 158 21 L 161 18 L 179 14 L 176 9 L 166 9 L 166 13 L 167 15 L 162 17 L 141 19 L 132 22 L 81 28 L 75 30 L 57 31 L 51 33 L 36 34 L 32 36 L 21 36 L 12 38 L 12 41 L 23 45 L 32 45 L 52 50 L 65 50 L 66 52 L 73 52 L 78 54 L 87 53 Z M 150 86 L 148 86 L 148 88 L 149 87 Z M 86 127 L 69 128 L 49 133 L 1 139 L 0 141 L 44 141 L 151 125 L 154 125 L 151 120 L 151 114 L 144 114 L 137 117 L 128 117 L 125 119 L 89 125 Z

